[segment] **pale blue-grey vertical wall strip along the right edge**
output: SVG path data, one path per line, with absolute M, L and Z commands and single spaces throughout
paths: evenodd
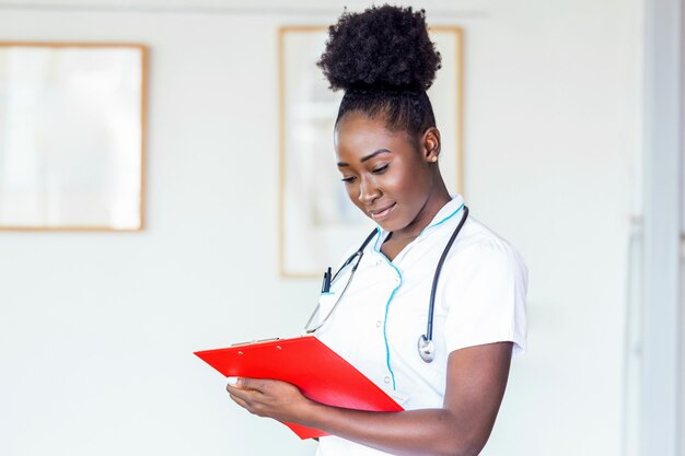
M 682 0 L 646 9 L 645 279 L 641 455 L 682 455 L 680 445 L 680 234 Z

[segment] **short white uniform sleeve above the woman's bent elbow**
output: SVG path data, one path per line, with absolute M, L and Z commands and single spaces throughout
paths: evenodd
M 527 269 L 503 241 L 455 253 L 445 280 L 444 336 L 448 352 L 465 347 L 511 341 L 513 354 L 525 350 Z

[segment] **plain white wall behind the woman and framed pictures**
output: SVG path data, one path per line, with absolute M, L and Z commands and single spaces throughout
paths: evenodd
M 150 46 L 147 230 L 0 233 L 0 454 L 313 453 L 191 354 L 297 332 L 318 285 L 277 272 L 276 27 L 339 8 L 263 3 L 0 2 L 2 40 Z M 642 1 L 428 7 L 466 33 L 465 196 L 531 277 L 530 351 L 484 454 L 618 456 Z

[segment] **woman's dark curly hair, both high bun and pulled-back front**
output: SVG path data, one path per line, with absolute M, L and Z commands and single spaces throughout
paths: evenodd
M 316 65 L 332 90 L 345 90 L 336 126 L 350 112 L 382 115 L 388 129 L 413 138 L 436 126 L 426 91 L 440 69 L 440 52 L 428 36 L 425 10 L 384 4 L 344 11 L 328 28 Z

